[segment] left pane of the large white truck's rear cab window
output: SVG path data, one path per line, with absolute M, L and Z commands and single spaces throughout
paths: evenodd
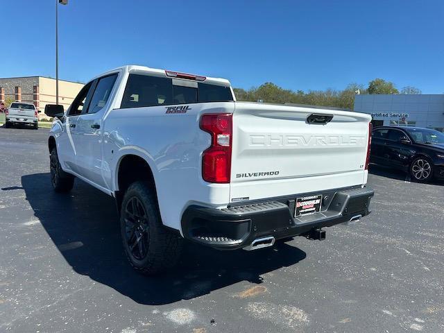
M 171 78 L 130 74 L 121 108 L 167 105 L 173 102 Z

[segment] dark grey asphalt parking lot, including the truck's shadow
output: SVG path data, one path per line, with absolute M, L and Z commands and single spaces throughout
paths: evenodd
M 444 332 L 444 184 L 372 167 L 373 213 L 325 241 L 188 244 L 147 278 L 112 198 L 53 193 L 47 134 L 0 128 L 0 332 Z

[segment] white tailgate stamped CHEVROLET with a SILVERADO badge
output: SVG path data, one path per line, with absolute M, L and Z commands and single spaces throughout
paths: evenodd
M 333 118 L 309 123 L 311 114 Z M 358 112 L 235 103 L 230 201 L 364 184 L 370 120 Z

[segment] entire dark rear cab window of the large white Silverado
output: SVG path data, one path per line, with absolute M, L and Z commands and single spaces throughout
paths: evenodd
M 171 78 L 130 74 L 121 108 L 233 101 L 230 87 L 186 82 L 193 84 L 173 85 Z

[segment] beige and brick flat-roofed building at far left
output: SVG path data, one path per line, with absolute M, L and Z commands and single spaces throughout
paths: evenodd
M 58 81 L 59 104 L 65 110 L 77 96 L 83 83 Z M 26 76 L 22 78 L 0 78 L 0 101 L 6 100 L 33 103 L 44 117 L 46 104 L 56 104 L 56 79 L 44 76 Z

